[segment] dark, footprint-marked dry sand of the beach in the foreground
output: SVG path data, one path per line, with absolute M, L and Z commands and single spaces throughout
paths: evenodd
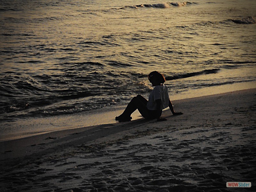
M 136 119 L 0 142 L 0 190 L 255 191 L 256 89 L 173 105 L 184 114 L 166 110 L 164 122 Z M 227 188 L 231 181 L 252 187 Z

